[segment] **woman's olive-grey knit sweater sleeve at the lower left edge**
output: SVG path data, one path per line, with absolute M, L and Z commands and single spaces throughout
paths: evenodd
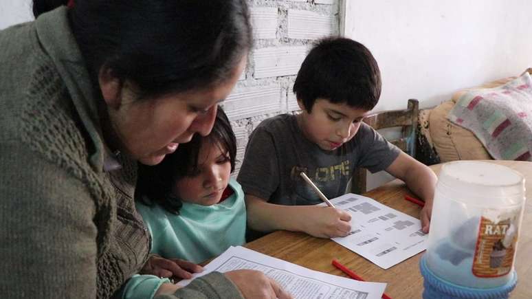
M 95 203 L 82 181 L 0 142 L 0 294 L 96 298 Z

